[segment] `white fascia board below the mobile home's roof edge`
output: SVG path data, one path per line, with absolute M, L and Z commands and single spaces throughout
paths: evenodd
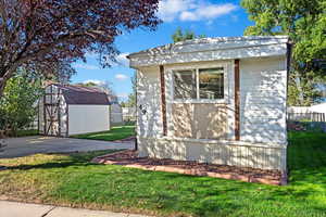
M 214 49 L 214 47 L 213 47 Z M 199 50 L 191 52 L 175 52 L 152 54 L 150 52 L 146 54 L 139 54 L 130 56 L 130 67 L 142 67 L 164 64 L 176 63 L 191 63 L 203 61 L 216 61 L 216 60 L 234 60 L 234 59 L 247 59 L 247 58 L 266 58 L 286 55 L 287 43 L 266 43 L 266 44 L 251 44 L 241 47 L 231 47 L 224 49 L 212 50 Z

